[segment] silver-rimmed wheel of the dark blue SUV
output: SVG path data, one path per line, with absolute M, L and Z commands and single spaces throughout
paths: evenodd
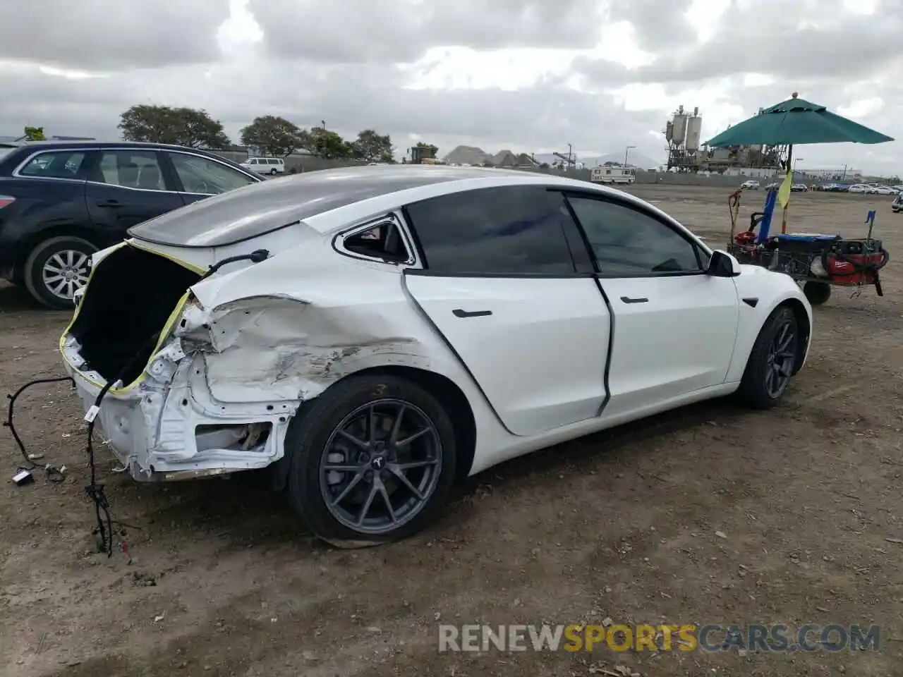
M 76 290 L 88 283 L 91 255 L 98 248 L 80 237 L 51 237 L 25 261 L 25 288 L 48 308 L 70 310 Z

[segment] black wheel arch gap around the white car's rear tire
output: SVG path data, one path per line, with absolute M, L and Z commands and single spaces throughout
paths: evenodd
M 396 376 L 411 381 L 421 386 L 435 397 L 439 403 L 449 413 L 452 419 L 452 426 L 455 434 L 455 447 L 457 450 L 457 463 L 455 468 L 455 479 L 461 480 L 470 474 L 470 468 L 473 466 L 473 457 L 476 450 L 477 442 L 477 423 L 470 407 L 467 396 L 461 391 L 448 376 L 442 376 L 433 371 L 421 369 L 414 366 L 372 366 L 361 369 L 343 376 L 334 384 L 335 387 L 340 383 L 344 383 L 349 379 L 359 378 L 361 376 Z M 313 400 L 310 402 L 312 403 Z M 310 403 L 305 403 L 295 414 L 295 417 L 306 415 L 310 409 Z M 273 487 L 277 491 L 282 491 L 286 487 L 288 481 L 288 473 L 290 469 L 291 459 L 286 453 L 282 459 L 274 464 Z

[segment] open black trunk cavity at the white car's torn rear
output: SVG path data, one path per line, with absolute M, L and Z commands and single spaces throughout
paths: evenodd
M 81 368 L 107 381 L 134 381 L 182 294 L 198 280 L 194 271 L 134 246 L 107 255 L 95 268 L 70 329 L 87 363 Z

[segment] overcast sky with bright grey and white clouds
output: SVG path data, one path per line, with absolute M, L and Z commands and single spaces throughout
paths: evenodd
M 137 103 L 340 134 L 660 160 L 789 97 L 900 139 L 800 167 L 903 172 L 903 0 L 2 0 L 0 134 L 116 138 Z

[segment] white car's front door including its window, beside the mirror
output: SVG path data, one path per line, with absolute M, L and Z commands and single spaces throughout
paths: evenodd
M 740 317 L 733 279 L 705 274 L 703 248 L 651 211 L 618 199 L 572 194 L 568 201 L 614 317 L 603 416 L 723 384 Z

